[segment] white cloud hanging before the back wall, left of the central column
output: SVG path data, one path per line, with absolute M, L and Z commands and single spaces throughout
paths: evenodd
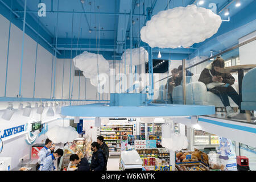
M 90 83 L 94 86 L 98 86 L 98 74 L 110 74 L 109 62 L 105 60 L 102 55 L 97 55 L 96 53 L 84 51 L 80 55 L 74 57 L 73 62 L 86 78 L 90 78 Z M 102 79 L 100 80 L 100 84 L 104 84 L 101 81 Z

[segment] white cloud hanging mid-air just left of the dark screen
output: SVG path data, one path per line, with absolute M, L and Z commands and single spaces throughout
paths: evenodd
M 126 65 L 132 64 L 134 66 L 142 64 L 145 61 L 148 61 L 148 52 L 143 47 L 126 49 L 126 51 L 123 52 L 122 61 Z

